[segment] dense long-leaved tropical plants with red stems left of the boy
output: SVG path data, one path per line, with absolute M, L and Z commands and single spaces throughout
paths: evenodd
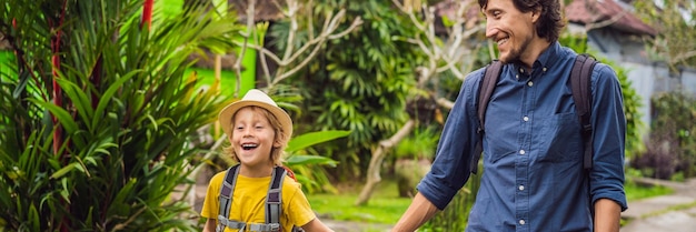
M 192 6 L 157 17 L 152 0 L 4 1 L 0 31 L 0 228 L 195 230 L 171 202 L 215 120 L 216 84 L 185 77 L 202 46 L 229 51 L 233 14 Z M 152 17 L 156 16 L 156 17 Z

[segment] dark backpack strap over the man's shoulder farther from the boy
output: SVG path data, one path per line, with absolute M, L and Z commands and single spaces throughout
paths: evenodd
M 583 145 L 585 151 L 583 154 L 583 167 L 591 169 L 593 167 L 593 125 L 591 115 L 591 72 L 597 61 L 588 54 L 578 54 L 570 71 L 570 87 L 573 88 L 573 100 L 583 127 Z

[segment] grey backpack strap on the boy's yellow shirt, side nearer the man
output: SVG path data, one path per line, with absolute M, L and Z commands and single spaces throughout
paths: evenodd
M 282 181 L 286 175 L 286 169 L 276 167 L 270 176 L 270 185 L 268 186 L 268 195 L 266 196 L 266 224 L 277 228 L 271 228 L 269 231 L 280 230 L 280 215 L 282 215 Z

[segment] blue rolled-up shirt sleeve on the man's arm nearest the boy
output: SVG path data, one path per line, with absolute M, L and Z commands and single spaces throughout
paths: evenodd
M 443 129 L 435 162 L 417 186 L 440 210 L 447 206 L 469 179 L 471 154 L 478 142 L 476 95 L 483 73 L 483 69 L 479 69 L 465 79 Z

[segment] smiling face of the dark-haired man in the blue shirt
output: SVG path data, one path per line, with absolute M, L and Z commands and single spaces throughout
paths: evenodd
M 535 29 L 538 12 L 521 12 L 513 0 L 488 0 L 483 12 L 486 16 L 486 37 L 498 44 L 500 61 L 536 60 L 538 53 L 530 44 L 535 40 L 545 40 L 537 36 Z

